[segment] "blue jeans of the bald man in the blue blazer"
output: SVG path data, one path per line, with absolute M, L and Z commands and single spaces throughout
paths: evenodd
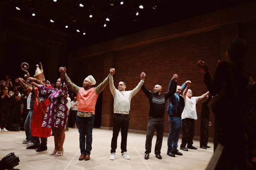
M 178 151 L 179 134 L 181 131 L 181 118 L 169 117 L 169 135 L 167 138 L 167 151 Z

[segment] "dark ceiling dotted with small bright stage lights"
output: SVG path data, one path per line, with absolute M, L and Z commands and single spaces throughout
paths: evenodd
M 249 1 L 0 0 L 0 30 L 43 35 L 68 42 L 71 48 L 79 48 Z M 140 9 L 139 5 L 144 8 Z

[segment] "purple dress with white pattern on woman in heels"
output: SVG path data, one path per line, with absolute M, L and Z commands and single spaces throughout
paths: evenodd
M 61 89 L 49 88 L 42 85 L 38 86 L 39 102 L 47 98 L 50 103 L 47 107 L 46 114 L 42 123 L 47 128 L 64 128 L 68 117 L 67 108 L 67 86 L 65 82 L 61 84 Z

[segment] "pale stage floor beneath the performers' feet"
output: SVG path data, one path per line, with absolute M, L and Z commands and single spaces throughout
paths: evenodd
M 48 138 L 48 150 L 36 152 L 34 149 L 26 149 L 22 144 L 25 139 L 25 132 L 0 132 L 0 159 L 10 152 L 20 158 L 20 165 L 15 168 L 20 170 L 202 170 L 204 169 L 213 154 L 212 148 L 204 150 L 189 149 L 188 152 L 181 151 L 183 156 L 170 157 L 167 152 L 167 137 L 162 142 L 162 160 L 154 155 L 156 136 L 153 138 L 152 151 L 148 160 L 144 159 L 146 134 L 128 133 L 127 150 L 131 159 L 126 160 L 120 157 L 121 133 L 118 137 L 118 148 L 115 160 L 109 160 L 110 143 L 112 130 L 94 128 L 91 159 L 88 161 L 78 160 L 80 156 L 79 133 L 77 129 L 69 129 L 66 132 L 64 142 L 64 155 L 60 157 L 50 156 L 54 149 L 53 136 Z M 179 139 L 179 145 L 181 139 Z M 199 147 L 199 141 L 194 141 L 194 146 Z

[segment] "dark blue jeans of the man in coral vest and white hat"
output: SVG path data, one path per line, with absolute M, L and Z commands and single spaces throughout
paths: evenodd
M 91 117 L 76 116 L 76 123 L 79 132 L 80 152 L 83 155 L 90 155 L 92 151 L 92 128 L 94 127 L 94 118 L 95 115 L 92 115 Z

